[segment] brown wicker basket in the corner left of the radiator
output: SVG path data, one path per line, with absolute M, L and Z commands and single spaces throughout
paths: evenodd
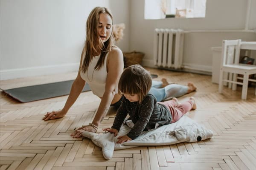
M 123 55 L 124 55 L 125 67 L 128 67 L 134 64 L 141 64 L 145 54 L 142 52 L 132 51 L 132 52 L 123 52 Z

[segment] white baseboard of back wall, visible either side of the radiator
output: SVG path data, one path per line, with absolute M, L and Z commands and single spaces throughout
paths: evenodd
M 154 65 L 154 61 L 151 59 L 143 59 L 142 65 L 146 67 L 157 68 Z M 183 71 L 186 71 L 186 72 L 207 74 L 207 75 L 212 74 L 212 66 L 196 65 L 196 64 L 189 64 L 189 63 L 183 63 L 183 66 L 184 66 Z

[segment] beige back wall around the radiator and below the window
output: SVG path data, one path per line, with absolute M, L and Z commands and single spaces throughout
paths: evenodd
M 143 65 L 153 67 L 154 29 L 181 28 L 186 31 L 183 64 L 192 70 L 211 72 L 211 47 L 221 46 L 224 39 L 256 40 L 255 32 L 244 31 L 247 2 L 247 0 L 207 0 L 205 18 L 145 20 L 144 0 L 131 0 L 130 51 L 144 52 Z M 255 9 L 256 0 L 251 0 L 249 29 L 256 29 Z

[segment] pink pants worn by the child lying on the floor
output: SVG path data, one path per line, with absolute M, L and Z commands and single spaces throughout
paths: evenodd
M 173 100 L 168 100 L 166 102 L 157 102 L 162 105 L 165 105 L 172 114 L 172 122 L 177 122 L 185 113 L 190 111 L 193 107 L 193 103 L 191 101 L 184 102 L 180 105 L 176 106 L 176 103 Z

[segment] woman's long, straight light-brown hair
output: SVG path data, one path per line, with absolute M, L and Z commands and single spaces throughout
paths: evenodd
M 90 62 L 93 57 L 100 54 L 99 60 L 94 69 L 99 70 L 102 65 L 104 65 L 104 60 L 108 51 L 114 45 L 115 39 L 113 37 L 113 30 L 111 30 L 111 36 L 106 42 L 102 42 L 98 34 L 99 26 L 99 14 L 108 14 L 113 22 L 113 17 L 110 11 L 105 7 L 95 7 L 89 14 L 86 22 L 86 40 L 84 43 L 84 49 L 82 51 L 81 57 L 84 57 L 84 62 L 82 63 L 81 70 L 83 72 L 87 71 Z M 111 27 L 112 29 L 112 27 Z

